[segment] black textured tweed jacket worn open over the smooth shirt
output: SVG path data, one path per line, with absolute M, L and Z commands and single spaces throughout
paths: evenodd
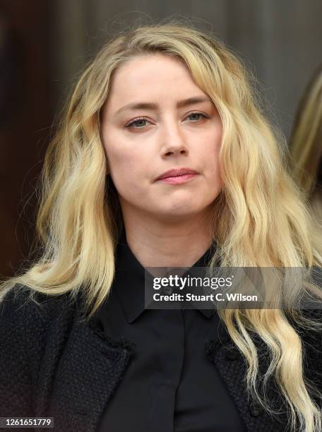
M 71 301 L 66 294 L 37 294 L 37 304 L 26 301 L 26 293 L 13 290 L 0 305 L 0 416 L 50 416 L 55 431 L 94 432 L 131 361 L 133 344 L 110 340 L 91 322 L 82 321 L 81 301 Z M 321 310 L 308 313 L 322 316 Z M 322 335 L 302 337 L 306 378 L 322 391 Z M 260 369 L 266 371 L 266 350 L 255 342 Z M 223 325 L 216 340 L 205 341 L 205 350 L 239 409 L 245 431 L 289 430 L 285 405 L 272 382 L 268 395 L 281 414 L 270 416 L 248 399 L 246 364 Z

